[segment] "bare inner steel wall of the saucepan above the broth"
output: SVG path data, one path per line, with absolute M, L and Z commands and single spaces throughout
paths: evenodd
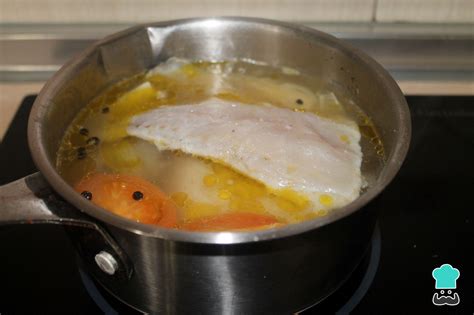
M 65 65 L 43 89 L 30 117 L 30 146 L 38 167 L 57 190 L 67 184 L 58 182 L 54 174 L 56 152 L 81 108 L 111 84 L 170 57 L 287 66 L 323 78 L 348 95 L 371 118 L 384 151 L 382 160 L 364 155 L 362 174 L 368 188 L 359 197 L 365 200 L 359 204 L 356 200 L 351 211 L 388 184 L 405 156 L 410 126 L 404 97 L 386 71 L 363 53 L 332 36 L 284 23 L 241 18 L 182 20 L 110 36 Z M 371 145 L 364 141 L 363 152 Z M 71 191 L 68 200 L 77 197 Z

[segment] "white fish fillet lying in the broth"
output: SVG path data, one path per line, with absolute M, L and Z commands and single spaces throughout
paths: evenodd
M 210 99 L 134 116 L 132 136 L 160 150 L 218 160 L 271 189 L 289 188 L 334 206 L 359 196 L 362 152 L 357 125 L 313 113 Z

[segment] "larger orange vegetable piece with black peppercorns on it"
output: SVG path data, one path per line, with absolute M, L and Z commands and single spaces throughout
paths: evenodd
M 177 226 L 173 201 L 140 177 L 96 173 L 83 178 L 75 189 L 96 205 L 128 219 L 169 228 Z

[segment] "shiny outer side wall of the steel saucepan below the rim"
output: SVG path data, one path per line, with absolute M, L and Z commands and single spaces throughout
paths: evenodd
M 96 279 L 152 314 L 292 314 L 346 280 L 366 253 L 375 218 L 366 208 L 307 233 L 234 245 L 174 242 L 111 228 L 134 274 L 122 283 L 100 274 Z

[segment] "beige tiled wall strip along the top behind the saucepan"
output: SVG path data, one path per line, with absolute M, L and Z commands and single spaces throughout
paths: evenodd
M 140 23 L 192 16 L 472 23 L 474 0 L 0 0 L 0 23 Z

